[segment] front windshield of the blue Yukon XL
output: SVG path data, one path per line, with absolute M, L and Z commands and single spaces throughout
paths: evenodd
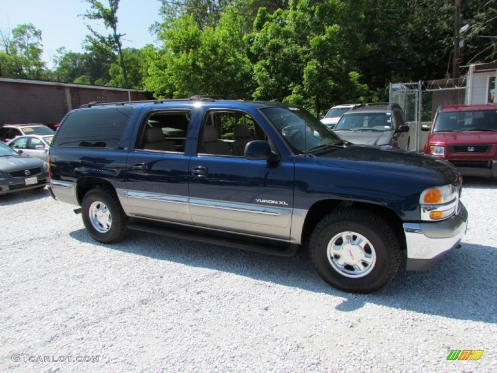
M 297 153 L 342 145 L 337 135 L 300 107 L 265 107 L 260 110 Z

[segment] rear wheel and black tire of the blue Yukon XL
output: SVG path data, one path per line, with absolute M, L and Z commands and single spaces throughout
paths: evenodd
M 110 244 L 126 237 L 128 218 L 114 193 L 93 188 L 84 195 L 81 207 L 84 226 L 96 241 Z

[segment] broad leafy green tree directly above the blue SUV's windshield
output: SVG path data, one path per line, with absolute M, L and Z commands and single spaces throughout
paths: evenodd
M 364 91 L 351 61 L 362 53 L 364 1 L 290 1 L 288 10 L 260 8 L 246 37 L 254 64 L 255 99 L 304 104 L 319 113 L 343 102 L 351 88 Z M 354 23 L 355 22 L 355 23 Z M 367 90 L 367 89 L 366 89 Z

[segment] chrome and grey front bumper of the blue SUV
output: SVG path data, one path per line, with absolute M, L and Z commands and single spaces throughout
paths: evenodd
M 408 271 L 428 269 L 459 244 L 468 224 L 468 211 L 459 206 L 457 215 L 440 222 L 404 223 Z

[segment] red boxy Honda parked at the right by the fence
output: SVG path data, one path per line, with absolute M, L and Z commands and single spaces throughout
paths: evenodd
M 439 108 L 424 153 L 451 162 L 462 175 L 497 178 L 497 105 Z

